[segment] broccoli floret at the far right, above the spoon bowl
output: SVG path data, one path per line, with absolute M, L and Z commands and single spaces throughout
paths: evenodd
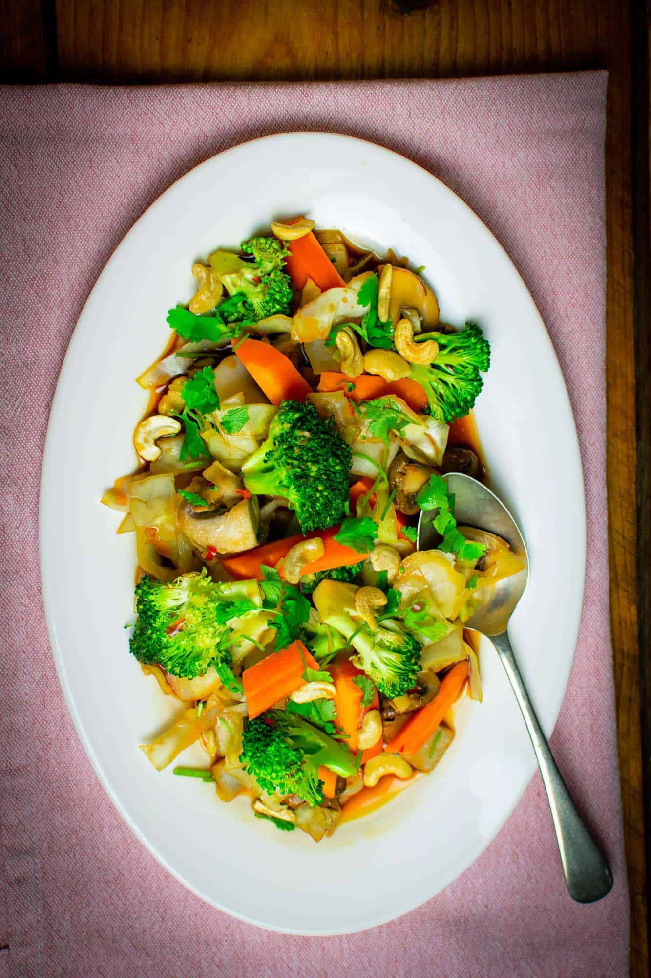
M 441 422 L 463 418 L 484 385 L 480 371 L 487 371 L 491 363 L 488 340 L 474 323 L 466 323 L 460 333 L 421 333 L 417 338 L 439 344 L 436 360 L 412 365 L 410 375 L 427 394 L 430 413 Z

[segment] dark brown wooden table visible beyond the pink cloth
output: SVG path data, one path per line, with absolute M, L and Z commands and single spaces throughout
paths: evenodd
M 642 756 L 651 755 L 651 666 L 638 650 L 651 640 L 651 531 L 643 505 L 651 495 L 645 7 L 644 0 L 0 0 L 0 71 L 10 82 L 610 71 L 608 514 L 634 976 L 648 973 L 643 774 L 651 794 L 642 767 Z

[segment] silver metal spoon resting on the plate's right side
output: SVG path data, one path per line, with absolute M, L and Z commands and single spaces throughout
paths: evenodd
M 459 472 L 451 472 L 444 478 L 448 491 L 455 494 L 456 521 L 497 533 L 510 544 L 514 554 L 526 561 L 526 567 L 520 573 L 499 581 L 493 598 L 475 611 L 466 622 L 466 627 L 490 636 L 498 651 L 541 769 L 568 891 L 573 900 L 582 904 L 592 903 L 610 892 L 613 874 L 587 831 L 586 824 L 556 767 L 506 631 L 508 620 L 529 581 L 529 555 L 525 542 L 515 520 L 490 489 L 469 475 Z M 421 513 L 418 520 L 418 550 L 429 550 L 436 546 L 438 534 L 432 525 L 431 515 Z

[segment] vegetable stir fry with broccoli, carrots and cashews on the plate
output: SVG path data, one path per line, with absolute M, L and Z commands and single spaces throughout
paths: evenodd
M 482 477 L 490 348 L 405 259 L 305 218 L 193 274 L 139 378 L 140 466 L 103 499 L 136 540 L 131 652 L 180 702 L 142 750 L 161 771 L 200 743 L 175 774 L 319 841 L 431 771 L 482 698 L 463 623 L 522 563 L 457 525 L 443 475 Z

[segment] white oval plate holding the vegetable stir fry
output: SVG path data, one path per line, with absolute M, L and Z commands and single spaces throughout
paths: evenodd
M 512 640 L 547 733 L 579 629 L 584 489 L 569 399 L 529 292 L 479 218 L 402 156 L 319 133 L 247 143 L 174 184 L 110 258 L 65 357 L 42 473 L 43 594 L 65 699 L 113 803 L 164 867 L 250 923 L 334 934 L 391 920 L 455 879 L 506 821 L 535 762 L 490 644 L 484 702 L 459 704 L 437 770 L 319 845 L 253 819 L 243 798 L 224 805 L 209 786 L 157 774 L 138 749 L 175 709 L 128 653 L 133 538 L 115 535 L 119 514 L 100 504 L 133 467 L 147 401 L 134 378 L 168 338 L 167 309 L 193 294 L 193 261 L 294 213 L 425 265 L 444 320 L 477 320 L 491 340 L 476 415 L 493 487 L 531 555 Z M 191 750 L 184 762 L 205 755 Z

